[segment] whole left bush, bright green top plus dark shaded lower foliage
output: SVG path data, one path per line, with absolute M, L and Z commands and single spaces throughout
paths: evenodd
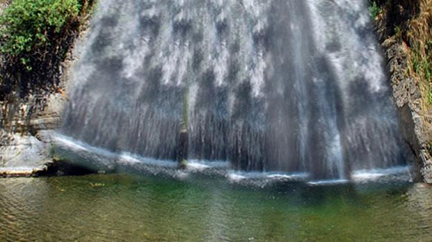
M 54 88 L 90 0 L 14 0 L 0 17 L 0 100 Z

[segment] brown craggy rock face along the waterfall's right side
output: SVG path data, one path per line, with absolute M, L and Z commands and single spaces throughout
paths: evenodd
M 376 17 L 377 33 L 385 49 L 390 85 L 399 108 L 401 131 L 415 154 L 413 178 L 415 181 L 432 183 L 432 116 L 429 115 L 430 110 L 425 104 L 426 97 L 422 91 L 422 83 L 430 83 L 421 74 L 413 72 L 413 52 L 418 48 L 415 46 L 426 45 L 425 40 L 431 40 L 431 30 L 428 27 L 428 21 L 431 20 L 428 17 L 432 1 L 378 2 L 381 2 L 381 13 Z M 422 23 L 422 28 L 418 28 L 419 22 Z M 424 29 L 424 33 L 418 33 L 417 29 Z M 415 34 L 422 35 L 424 40 L 414 40 Z

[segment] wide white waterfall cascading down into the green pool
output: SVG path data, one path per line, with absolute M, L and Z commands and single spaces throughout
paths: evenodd
M 406 162 L 363 0 L 101 0 L 62 132 L 111 152 L 243 171 Z

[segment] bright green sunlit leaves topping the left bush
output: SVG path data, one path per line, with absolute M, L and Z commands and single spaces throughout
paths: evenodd
M 50 37 L 78 17 L 78 0 L 15 0 L 0 17 L 0 51 L 11 56 L 31 52 L 35 47 L 50 45 Z M 29 58 L 20 58 L 29 65 Z

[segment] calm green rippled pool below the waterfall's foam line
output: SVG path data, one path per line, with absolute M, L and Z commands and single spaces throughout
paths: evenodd
M 0 179 L 0 214 L 0 241 L 432 241 L 422 184 L 10 178 Z

